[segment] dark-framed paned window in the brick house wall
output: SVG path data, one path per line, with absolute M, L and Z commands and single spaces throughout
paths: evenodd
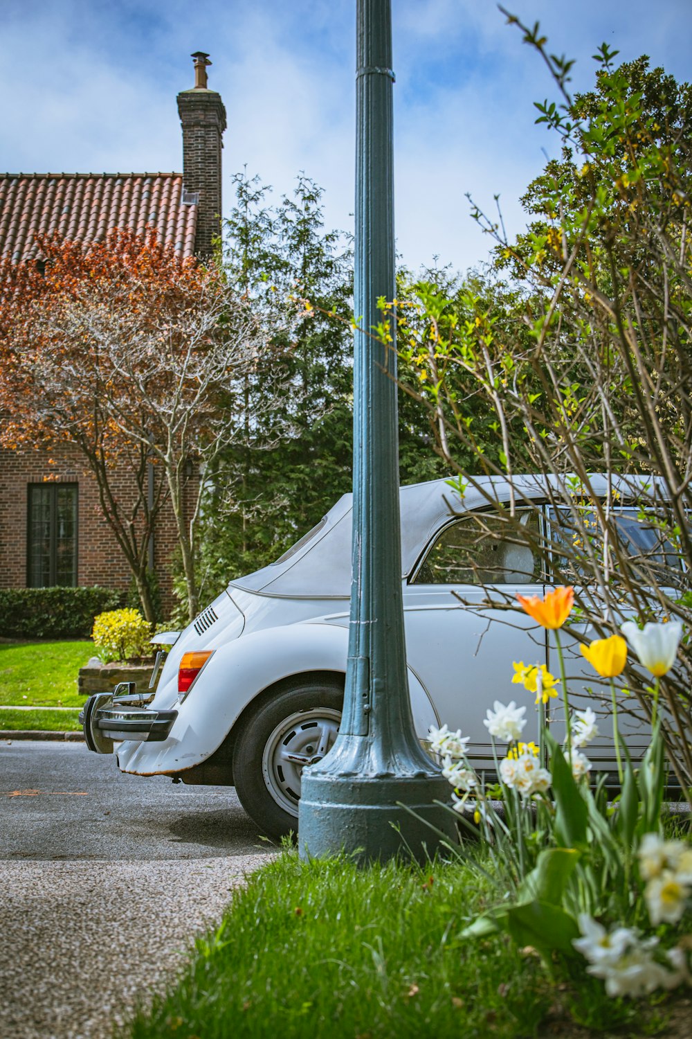
M 77 584 L 77 497 L 76 483 L 29 484 L 29 588 Z

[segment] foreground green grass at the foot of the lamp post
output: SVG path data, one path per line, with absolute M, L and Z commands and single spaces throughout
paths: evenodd
M 562 1016 L 563 1036 L 591 1034 L 576 1021 L 649 1031 L 638 1004 L 608 1000 L 594 979 L 558 986 L 532 951 L 503 937 L 462 941 L 496 901 L 483 883 L 463 863 L 358 870 L 284 852 L 233 896 L 178 983 L 124 1034 L 508 1039 L 541 1035 L 548 1015 L 551 1027 Z M 649 1018 L 656 1031 L 663 1018 Z

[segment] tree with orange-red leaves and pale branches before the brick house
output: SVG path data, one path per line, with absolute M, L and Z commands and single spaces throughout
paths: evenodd
M 240 390 L 267 322 L 154 233 L 39 244 L 43 270 L 0 265 L 0 444 L 78 448 L 149 620 L 147 547 L 168 501 L 192 618 L 203 473 L 247 428 Z

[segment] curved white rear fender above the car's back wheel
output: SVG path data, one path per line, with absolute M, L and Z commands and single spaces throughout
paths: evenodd
M 136 775 L 177 773 L 205 761 L 248 705 L 269 686 L 293 675 L 345 671 L 349 633 L 329 623 L 287 624 L 219 646 L 179 705 L 163 743 L 119 744 L 118 767 Z M 409 668 L 411 707 L 420 739 L 438 719 L 425 689 Z

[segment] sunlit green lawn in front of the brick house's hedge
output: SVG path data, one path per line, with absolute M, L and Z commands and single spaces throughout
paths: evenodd
M 77 674 L 92 652 L 86 639 L 0 644 L 0 704 L 82 707 Z

